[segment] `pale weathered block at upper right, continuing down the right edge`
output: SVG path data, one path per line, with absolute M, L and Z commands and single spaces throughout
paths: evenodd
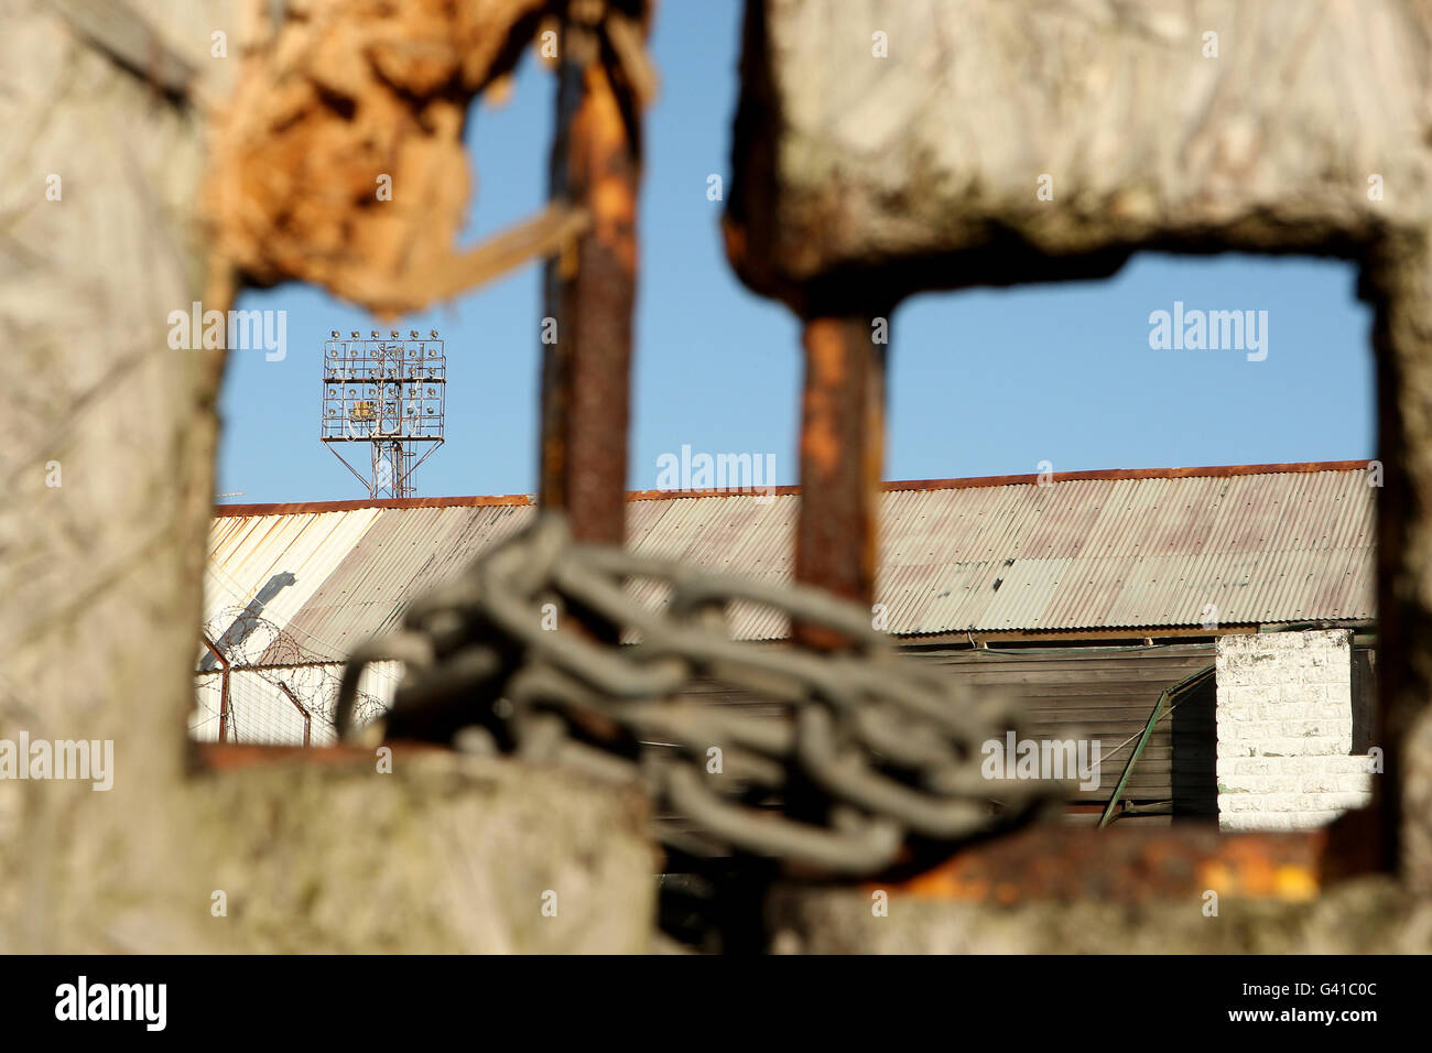
M 1429 56 L 1426 0 L 752 0 L 725 218 L 743 281 L 805 317 L 1138 249 L 1359 262 L 1386 471 L 1375 791 L 1388 864 L 1425 893 Z

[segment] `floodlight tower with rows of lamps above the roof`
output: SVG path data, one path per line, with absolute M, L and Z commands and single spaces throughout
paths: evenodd
M 388 340 L 377 330 L 368 340 L 357 330 L 348 340 L 338 330 L 328 335 L 319 438 L 369 497 L 411 497 L 412 473 L 442 446 L 447 351 L 438 331 L 430 330 L 427 340 L 417 330 L 408 330 L 408 340 L 397 330 Z M 344 457 L 345 443 L 368 446 L 367 479 Z

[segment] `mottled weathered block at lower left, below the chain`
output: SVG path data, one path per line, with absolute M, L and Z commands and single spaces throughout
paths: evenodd
M 186 905 L 205 947 L 623 954 L 649 948 L 646 802 L 564 771 L 441 751 L 196 778 Z M 198 880 L 202 878 L 202 884 Z M 226 917 L 213 915 L 213 891 Z

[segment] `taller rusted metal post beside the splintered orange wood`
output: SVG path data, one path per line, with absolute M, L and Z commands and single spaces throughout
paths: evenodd
M 637 4 L 610 4 L 613 9 Z M 589 231 L 546 268 L 540 500 L 574 536 L 624 539 L 640 103 L 603 54 L 601 3 L 563 24 L 551 198 L 583 208 Z

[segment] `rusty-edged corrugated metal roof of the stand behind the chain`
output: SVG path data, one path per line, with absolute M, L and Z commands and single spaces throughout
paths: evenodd
M 904 636 L 1194 628 L 1373 616 L 1365 463 L 1237 466 L 888 484 L 876 600 Z M 634 550 L 786 582 L 799 496 L 636 494 Z M 211 625 L 294 582 L 261 616 L 335 660 L 530 521 L 526 499 L 246 506 L 213 520 Z M 660 589 L 633 585 L 646 603 Z M 1216 612 L 1216 613 L 1214 613 Z M 742 639 L 788 632 L 737 605 Z M 222 630 L 222 629 L 221 629 Z M 281 649 L 265 660 L 279 660 Z

